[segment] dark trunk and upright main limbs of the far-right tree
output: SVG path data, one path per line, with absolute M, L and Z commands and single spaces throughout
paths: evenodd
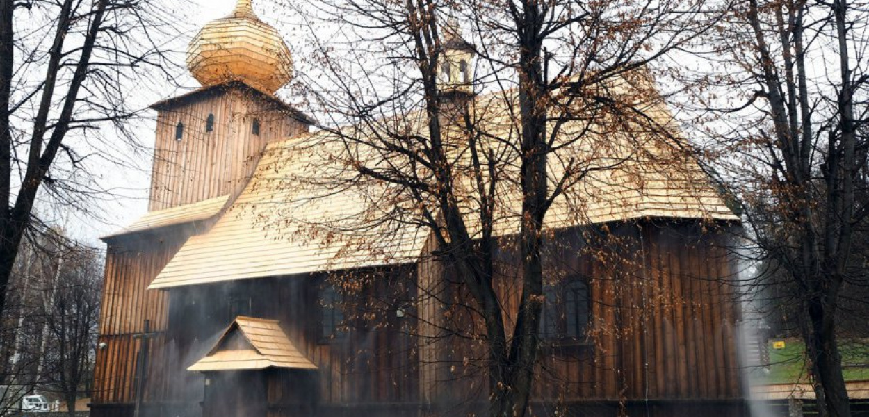
M 856 142 L 852 115 L 851 71 L 848 63 L 846 0 L 832 3 L 832 11 L 839 40 L 839 70 L 842 86 L 839 90 L 840 137 L 832 135 L 828 141 L 824 176 L 826 191 L 813 194 L 812 177 L 812 98 L 806 87 L 805 50 L 803 45 L 803 13 L 805 3 L 782 3 L 775 10 L 779 24 L 781 61 L 785 64 L 784 79 L 773 68 L 776 60 L 766 45 L 765 31 L 759 17 L 756 0 L 748 0 L 748 23 L 755 36 L 755 47 L 763 71 L 762 83 L 766 87 L 767 101 L 773 115 L 774 133 L 783 156 L 786 181 L 793 189 L 793 201 L 798 202 L 786 215 L 789 222 L 799 228 L 799 252 L 794 254 L 797 268 L 793 268 L 794 281 L 799 282 L 799 298 L 803 300 L 806 318 L 800 323 L 806 353 L 811 360 L 815 378 L 815 394 L 821 417 L 850 417 L 845 379 L 842 375 L 839 346 L 836 339 L 836 306 L 839 302 L 841 271 L 851 256 L 852 205 L 854 195 Z M 785 22 L 786 8 L 788 17 Z M 795 10 L 796 9 L 796 10 Z M 793 43 L 793 44 L 792 44 Z M 796 52 L 792 56 L 791 50 Z M 793 69 L 796 67 L 796 73 Z M 779 89 L 786 85 L 786 90 Z M 799 90 L 799 94 L 798 91 Z M 798 103 L 799 101 L 799 103 Z M 801 120 L 800 120 L 801 119 Z M 818 209 L 818 199 L 826 203 Z M 823 217 L 823 222 L 816 221 Z M 783 262 L 788 259 L 781 260 Z

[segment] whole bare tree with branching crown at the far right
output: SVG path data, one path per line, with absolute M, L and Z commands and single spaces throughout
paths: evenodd
M 867 283 L 865 4 L 740 1 L 711 35 L 685 107 L 702 106 L 704 156 L 769 267 L 760 283 L 793 303 L 821 415 L 850 416 L 837 323 Z

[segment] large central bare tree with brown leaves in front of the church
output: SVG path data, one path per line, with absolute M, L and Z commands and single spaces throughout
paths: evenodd
M 348 29 L 343 37 L 330 31 L 330 41 L 313 30 L 328 85 L 309 81 L 333 123 L 321 126 L 325 134 L 308 151 L 328 153 L 344 171 L 315 169 L 308 181 L 331 192 L 361 190 L 366 207 L 357 225 L 314 226 L 328 242 L 349 235 L 377 255 L 401 240 L 381 238 L 401 225 L 428 231 L 431 255 L 454 273 L 463 305 L 481 323 L 451 332 L 485 347 L 490 415 L 524 415 L 538 359 L 547 213 L 562 204 L 574 220 L 584 218 L 587 195 L 577 184 L 595 172 L 637 160 L 666 171 L 686 161 L 687 145 L 644 69 L 718 15 L 702 1 L 315 5 L 300 10 Z M 461 23 L 448 27 L 450 18 Z M 445 64 L 456 50 L 481 60 Z M 458 85 L 453 71 L 461 71 Z M 485 91 L 494 92 L 474 97 Z M 288 211 L 275 222 L 291 222 Z M 309 239 L 305 233 L 295 237 Z M 503 310 L 494 279 L 502 250 L 519 260 L 515 316 Z M 342 279 L 352 278 L 337 280 L 348 293 L 358 289 Z M 444 301 L 433 288 L 417 291 Z

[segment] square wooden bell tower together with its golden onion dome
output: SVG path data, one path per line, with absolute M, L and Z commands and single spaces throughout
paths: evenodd
M 187 65 L 202 89 L 152 106 L 158 116 L 149 211 L 231 199 L 269 142 L 307 132 L 310 124 L 273 96 L 292 79 L 293 60 L 250 0 L 202 27 Z

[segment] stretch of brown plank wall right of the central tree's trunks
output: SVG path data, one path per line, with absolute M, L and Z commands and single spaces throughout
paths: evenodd
M 545 347 L 535 397 L 740 399 L 726 236 L 687 222 L 621 232 L 631 241 L 617 265 L 561 257 L 561 268 L 592 279 L 589 344 Z

